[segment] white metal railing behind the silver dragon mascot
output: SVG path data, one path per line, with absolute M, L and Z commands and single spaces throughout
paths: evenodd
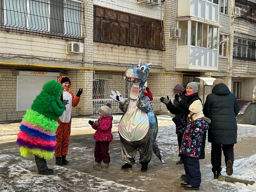
M 125 98 L 124 100 L 127 100 Z M 93 115 L 98 115 L 99 109 L 101 106 L 105 105 L 107 102 L 110 102 L 112 104 L 112 108 L 110 109 L 110 113 L 122 113 L 122 111 L 119 109 L 119 103 L 114 101 L 113 99 L 93 99 Z M 152 107 L 153 110 L 161 110 L 162 109 L 162 103 L 160 101 L 160 97 L 153 97 Z

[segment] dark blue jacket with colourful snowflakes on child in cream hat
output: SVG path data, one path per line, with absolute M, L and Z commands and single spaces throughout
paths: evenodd
M 204 131 L 209 128 L 210 119 L 203 117 L 177 127 L 183 133 L 180 152 L 190 157 L 199 157 Z

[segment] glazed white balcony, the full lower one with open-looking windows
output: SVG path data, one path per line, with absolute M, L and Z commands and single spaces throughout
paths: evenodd
M 218 70 L 218 25 L 188 19 L 178 21 L 177 71 Z

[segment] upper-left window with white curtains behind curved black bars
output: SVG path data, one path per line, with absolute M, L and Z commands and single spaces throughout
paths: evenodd
M 78 0 L 0 0 L 0 30 L 82 41 Z

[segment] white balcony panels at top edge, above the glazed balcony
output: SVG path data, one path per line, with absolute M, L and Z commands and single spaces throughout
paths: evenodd
M 219 1 L 178 0 L 178 17 L 188 16 L 219 22 Z

